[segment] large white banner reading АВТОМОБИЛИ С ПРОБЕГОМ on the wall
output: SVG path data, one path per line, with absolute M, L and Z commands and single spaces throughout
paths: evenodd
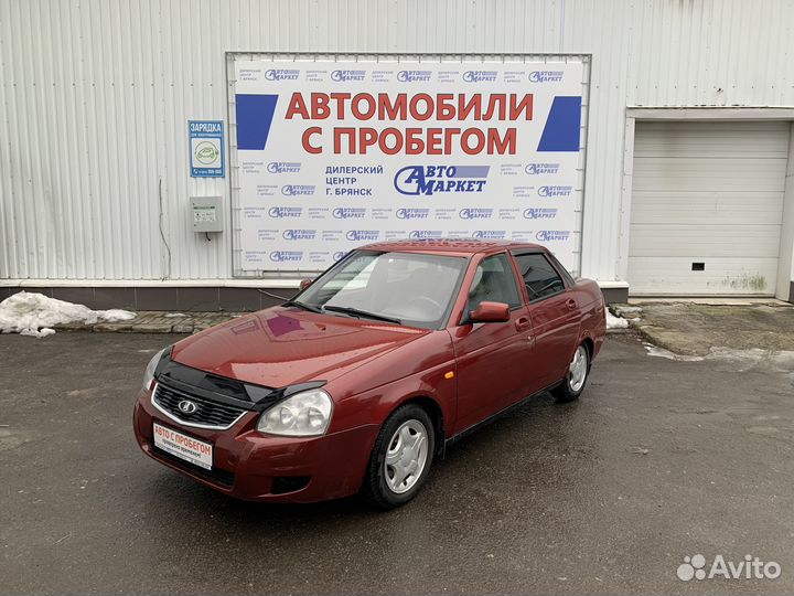
M 235 61 L 243 272 L 398 238 L 547 245 L 576 268 L 581 62 Z

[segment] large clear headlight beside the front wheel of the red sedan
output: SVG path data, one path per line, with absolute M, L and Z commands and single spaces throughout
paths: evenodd
M 298 393 L 266 409 L 259 417 L 257 430 L 285 437 L 324 435 L 331 423 L 333 402 L 322 390 Z

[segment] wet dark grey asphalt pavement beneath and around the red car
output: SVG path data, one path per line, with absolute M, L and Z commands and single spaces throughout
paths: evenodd
M 1 594 L 794 592 L 794 371 L 611 336 L 578 403 L 540 396 L 379 513 L 230 500 L 146 458 L 131 412 L 176 336 L 0 336 Z M 684 582 L 685 556 L 775 562 Z

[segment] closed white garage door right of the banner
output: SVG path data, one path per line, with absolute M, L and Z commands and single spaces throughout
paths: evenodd
M 632 295 L 775 291 L 786 123 L 637 123 Z

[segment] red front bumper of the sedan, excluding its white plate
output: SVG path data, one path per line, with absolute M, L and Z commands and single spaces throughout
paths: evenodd
M 133 412 L 138 445 L 149 457 L 221 492 L 248 501 L 314 502 L 358 491 L 377 425 L 320 437 L 277 437 L 256 430 L 259 414 L 245 414 L 228 430 L 193 428 L 164 416 L 141 391 Z M 213 469 L 203 470 L 154 447 L 157 422 L 213 444 Z

